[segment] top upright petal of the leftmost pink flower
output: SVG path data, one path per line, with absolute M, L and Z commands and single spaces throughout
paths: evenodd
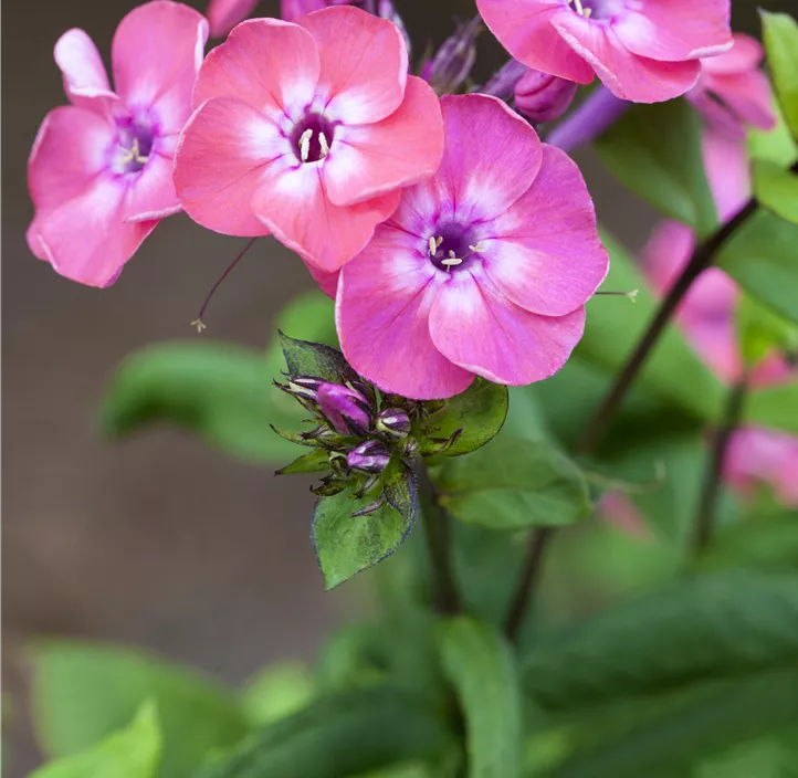
M 155 0 L 130 11 L 111 48 L 116 92 L 133 112 L 154 111 L 161 135 L 191 115 L 191 90 L 208 40 L 208 21 L 179 2 Z

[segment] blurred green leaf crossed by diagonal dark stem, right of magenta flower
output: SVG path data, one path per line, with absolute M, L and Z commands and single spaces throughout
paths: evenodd
M 602 231 L 601 240 L 610 253 L 610 272 L 605 286 L 639 290 L 639 293 L 636 303 L 623 297 L 594 298 L 587 309 L 585 336 L 575 356 L 616 372 L 637 346 L 659 301 L 647 291 L 645 280 L 626 250 L 607 232 Z M 660 338 L 637 385 L 705 420 L 715 419 L 725 396 L 722 383 L 687 346 L 676 327 L 669 327 Z M 550 388 L 554 390 L 555 387 Z

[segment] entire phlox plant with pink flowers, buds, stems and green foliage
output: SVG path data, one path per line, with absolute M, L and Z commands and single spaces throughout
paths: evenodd
M 125 283 L 185 211 L 249 239 L 233 265 L 277 240 L 318 287 L 264 354 L 130 355 L 104 429 L 306 476 L 318 585 L 378 607 L 239 691 L 36 643 L 34 775 L 794 775 L 798 23 L 476 0 L 433 50 L 410 6 L 154 0 L 113 84 L 85 32 L 55 44 L 34 256 Z M 505 64 L 480 73 L 491 34 Z M 582 147 L 659 215 L 637 256 Z

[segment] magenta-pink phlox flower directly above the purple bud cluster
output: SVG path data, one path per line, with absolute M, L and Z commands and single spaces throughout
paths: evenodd
M 443 160 L 406 189 L 338 280 L 349 364 L 418 399 L 475 375 L 524 385 L 565 364 L 608 270 L 577 166 L 495 97 L 441 99 Z

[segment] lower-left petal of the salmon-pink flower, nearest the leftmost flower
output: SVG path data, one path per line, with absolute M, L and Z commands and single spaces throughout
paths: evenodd
M 175 187 L 186 212 L 216 232 L 267 235 L 252 197 L 291 146 L 263 114 L 233 97 L 203 103 L 175 154 Z M 293 155 L 292 155 L 293 157 Z

